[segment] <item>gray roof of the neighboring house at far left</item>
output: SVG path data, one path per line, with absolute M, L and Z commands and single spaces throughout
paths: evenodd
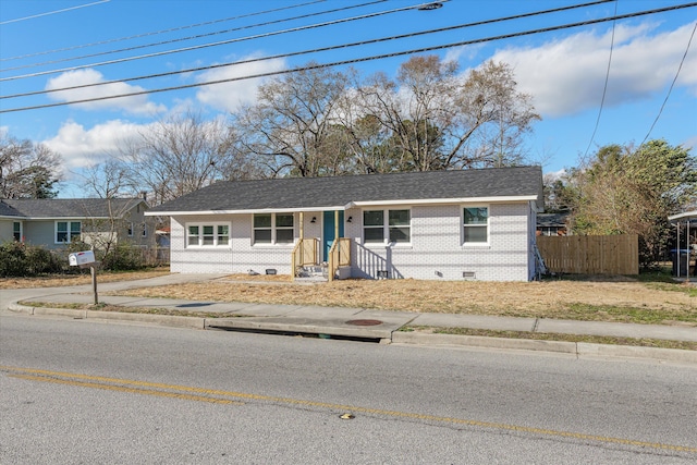
M 19 218 L 120 218 L 142 198 L 3 198 L 0 216 Z

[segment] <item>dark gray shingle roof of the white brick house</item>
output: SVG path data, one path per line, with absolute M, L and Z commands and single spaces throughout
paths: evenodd
M 533 197 L 542 206 L 540 167 L 222 181 L 149 213 L 344 207 L 351 203 Z

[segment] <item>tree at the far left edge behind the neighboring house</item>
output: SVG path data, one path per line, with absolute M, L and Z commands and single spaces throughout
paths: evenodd
M 42 144 L 0 138 L 0 196 L 2 198 L 52 198 L 62 180 L 61 156 Z

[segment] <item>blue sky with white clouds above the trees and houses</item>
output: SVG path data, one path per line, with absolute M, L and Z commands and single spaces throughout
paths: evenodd
M 513 66 L 519 89 L 533 96 L 542 117 L 528 135 L 526 147 L 530 159 L 542 164 L 546 173 L 577 166 L 585 154 L 592 154 L 598 146 L 639 144 L 647 135 L 665 138 L 672 145 L 696 147 L 697 37 L 689 50 L 687 46 L 697 23 L 697 7 L 488 40 L 692 3 L 688 0 L 609 1 L 311 52 L 588 2 L 450 0 L 442 2 L 440 9 L 420 11 L 412 8 L 424 3 L 418 0 L 0 0 L 1 96 L 112 82 L 81 90 L 2 98 L 0 111 L 192 86 L 3 112 L 0 131 L 44 143 L 60 152 L 66 179 L 60 196 L 81 196 L 81 170 L 103 161 L 120 142 L 182 109 L 193 109 L 207 119 L 224 117 L 241 102 L 254 101 L 260 81 L 208 86 L 200 83 L 285 70 L 310 60 L 329 63 L 383 54 L 396 56 L 359 61 L 353 66 L 363 75 L 378 71 L 393 75 L 411 57 L 401 53 L 435 47 L 428 53 L 456 60 L 462 72 L 490 59 Z M 463 42 L 472 44 L 443 47 Z M 207 69 L 301 51 L 309 52 Z M 105 64 L 109 61 L 115 62 Z M 125 81 L 191 69 L 203 70 Z

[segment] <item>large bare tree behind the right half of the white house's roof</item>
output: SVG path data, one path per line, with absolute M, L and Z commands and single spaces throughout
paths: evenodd
M 391 151 L 407 171 L 516 164 L 521 135 L 539 119 L 504 63 L 463 77 L 453 62 L 414 57 L 395 81 L 376 74 L 359 94 L 363 113 L 392 133 Z

